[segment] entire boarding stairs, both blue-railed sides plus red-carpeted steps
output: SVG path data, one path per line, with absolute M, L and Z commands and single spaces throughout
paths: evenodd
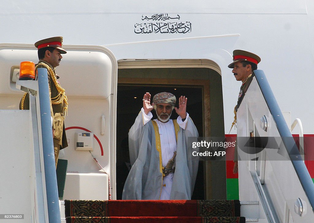
M 220 207 L 223 209 L 230 206 L 230 203 L 217 205 L 220 201 L 196 200 L 79 201 L 78 205 L 75 204 L 78 212 L 75 212 L 73 208 L 76 201 L 58 199 L 47 71 L 39 68 L 38 81 L 17 81 L 17 84 L 31 92 L 30 110 L 0 111 L 4 126 L 0 134 L 2 147 L 7 148 L 2 150 L 5 158 L 0 162 L 2 213 L 13 214 L 12 210 L 17 210 L 24 214 L 24 222 L 35 223 L 313 222 L 314 184 L 261 70 L 255 71 L 255 77 L 237 112 L 237 133 L 238 139 L 240 138 L 238 146 L 241 147 L 241 137 L 250 138 L 253 133 L 255 139 L 265 137 L 268 142 L 272 139 L 279 150 L 274 149 L 271 143 L 266 143 L 265 149 L 255 153 L 247 153 L 239 148 L 240 202 L 224 201 L 237 204 L 237 211 L 223 211 L 220 216 L 212 215 L 211 210 Z M 29 147 L 25 149 L 25 145 Z M 67 202 L 70 202 L 69 207 Z M 99 210 L 102 207 L 104 213 L 87 213 L 83 216 L 80 212 L 87 208 L 80 207 L 81 202 L 87 202 L 91 209 Z M 202 204 L 205 204 L 207 212 L 204 215 L 200 212 Z M 235 206 L 231 209 L 236 210 Z M 70 214 L 63 216 L 64 210 Z M 4 223 L 11 221 L 1 220 Z

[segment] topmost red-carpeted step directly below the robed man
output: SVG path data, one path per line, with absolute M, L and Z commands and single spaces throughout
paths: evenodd
M 65 217 L 238 217 L 239 200 L 65 200 Z

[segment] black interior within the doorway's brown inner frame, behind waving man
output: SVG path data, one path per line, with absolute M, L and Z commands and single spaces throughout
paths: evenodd
M 185 95 L 188 98 L 187 112 L 193 119 L 198 129 L 199 136 L 203 136 L 203 88 L 200 86 L 180 86 L 180 85 L 135 85 L 135 84 L 118 84 L 117 88 L 117 120 L 116 120 L 116 182 L 117 182 L 117 200 L 122 197 L 122 190 L 128 169 L 125 161 L 127 157 L 127 137 L 129 128 L 133 125 L 138 112 L 143 106 L 143 95 L 150 92 L 152 98 L 159 92 L 171 92 L 178 100 L 178 97 Z M 177 103 L 178 104 L 178 103 Z M 156 118 L 154 111 L 153 119 Z M 172 119 L 177 118 L 174 110 L 171 115 Z M 204 163 L 199 162 L 198 176 L 195 183 L 192 200 L 204 200 Z

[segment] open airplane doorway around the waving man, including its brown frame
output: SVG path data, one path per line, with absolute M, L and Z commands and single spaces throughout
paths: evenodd
M 154 62 L 154 61 L 153 61 Z M 120 62 L 121 63 L 121 62 Z M 143 63 L 143 61 L 141 61 Z M 174 63 L 174 60 L 171 61 Z M 123 67 L 123 68 L 122 68 Z M 199 136 L 224 136 L 221 75 L 208 67 L 124 67 L 118 62 L 117 121 L 116 121 L 116 180 L 117 199 L 121 199 L 124 177 L 119 173 L 124 163 L 127 133 L 143 106 L 143 95 L 152 97 L 168 91 L 176 97 L 188 98 L 187 112 L 198 128 Z M 176 89 L 176 90 L 175 90 Z M 155 118 L 155 112 L 152 112 Z M 171 118 L 176 118 L 172 112 Z M 123 165 L 122 165 L 123 167 Z M 128 171 L 127 171 L 128 172 Z M 200 161 L 192 199 L 226 199 L 225 161 Z

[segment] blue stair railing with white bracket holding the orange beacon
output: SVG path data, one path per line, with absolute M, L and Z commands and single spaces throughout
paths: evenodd
M 48 73 L 37 69 L 37 81 L 17 81 L 17 87 L 30 93 L 30 111 L 34 141 L 37 212 L 34 222 L 61 223 L 57 175 L 54 158 Z M 36 83 L 37 82 L 37 83 Z

